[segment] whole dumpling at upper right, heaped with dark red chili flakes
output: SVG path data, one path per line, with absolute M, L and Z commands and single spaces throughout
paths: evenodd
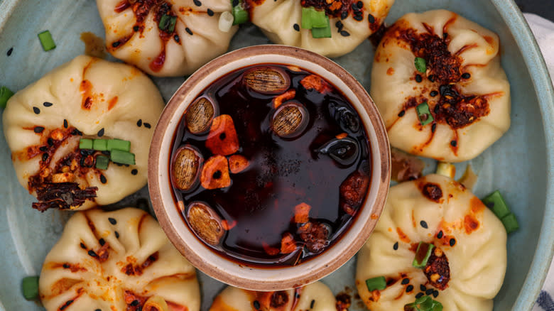
M 396 21 L 376 49 L 370 92 L 391 145 L 460 162 L 499 139 L 510 127 L 499 48 L 495 33 L 450 11 Z

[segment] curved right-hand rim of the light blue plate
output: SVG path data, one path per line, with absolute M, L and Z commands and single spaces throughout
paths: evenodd
M 490 1 L 496 7 L 496 11 L 508 26 L 519 50 L 521 50 L 523 61 L 535 87 L 545 133 L 548 185 L 545 195 L 544 220 L 533 261 L 516 302 L 511 308 L 511 310 L 531 310 L 541 292 L 554 255 L 554 227 L 548 222 L 549 219 L 554 219 L 554 88 L 541 49 L 517 4 L 514 0 Z

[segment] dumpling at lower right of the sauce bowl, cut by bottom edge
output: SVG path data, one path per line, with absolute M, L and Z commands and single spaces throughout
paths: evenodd
M 433 244 L 425 268 L 412 266 Z M 404 310 L 421 295 L 448 311 L 492 310 L 506 273 L 506 229 L 462 184 L 441 175 L 391 187 L 375 231 L 357 258 L 358 293 L 371 311 Z M 384 276 L 369 292 L 366 280 Z M 423 294 L 421 294 L 423 293 Z

